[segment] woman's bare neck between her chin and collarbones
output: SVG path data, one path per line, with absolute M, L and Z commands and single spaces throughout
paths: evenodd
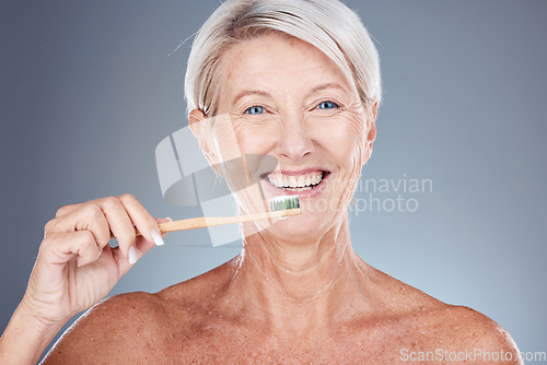
M 245 239 L 229 290 L 248 315 L 272 330 L 310 333 L 347 320 L 354 315 L 352 308 L 366 306 L 365 268 L 351 247 L 346 219 L 309 243 L 282 242 L 267 234 Z

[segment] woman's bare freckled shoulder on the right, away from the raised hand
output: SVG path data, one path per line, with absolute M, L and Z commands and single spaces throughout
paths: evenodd
M 496 357 L 491 363 L 521 364 L 515 342 L 494 320 L 469 307 L 443 303 L 376 269 L 371 272 L 377 292 L 388 298 L 387 305 L 382 306 L 387 308 L 383 317 L 389 323 L 397 323 L 389 333 L 391 338 L 400 340 L 396 343 L 397 352 L 435 354 L 441 351 L 443 356 L 475 353 L 472 358 L 476 358 L 477 364 L 490 364 L 489 355 L 493 354 L 492 358 L 502 353 L 508 362 Z M 466 363 L 474 362 L 467 356 Z

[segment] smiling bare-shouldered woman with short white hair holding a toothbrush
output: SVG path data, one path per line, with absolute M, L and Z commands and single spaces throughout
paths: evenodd
M 101 302 L 45 364 L 519 363 L 496 322 L 373 269 L 352 249 L 347 207 L 372 153 L 381 82 L 377 52 L 348 8 L 226 1 L 193 45 L 186 96 L 211 165 L 274 156 L 275 169 L 257 164 L 245 179 L 259 175 L 267 199 L 298 193 L 304 214 L 244 224 L 241 255 L 193 280 Z M 219 174 L 232 187 L 242 179 Z M 235 197 L 242 212 L 258 209 L 253 192 Z M 69 318 L 163 244 L 158 222 L 127 195 L 61 208 L 0 341 L 1 363 L 35 363 Z M 475 349 L 508 361 L 449 355 Z M 437 357 L 420 357 L 429 353 Z

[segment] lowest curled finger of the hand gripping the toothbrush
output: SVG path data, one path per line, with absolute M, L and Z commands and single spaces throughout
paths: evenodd
M 65 264 L 78 256 L 79 266 L 94 262 L 101 248 L 90 231 L 63 232 L 44 239 L 40 257 L 53 264 Z

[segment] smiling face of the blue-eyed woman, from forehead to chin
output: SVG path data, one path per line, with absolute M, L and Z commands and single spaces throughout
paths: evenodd
M 346 217 L 341 213 L 370 156 L 374 121 L 368 127 L 363 105 L 336 64 L 294 37 L 242 42 L 223 55 L 220 71 L 210 133 L 214 160 L 275 157 L 276 167 L 249 164 L 245 179 L 259 180 L 267 201 L 299 195 L 304 213 L 276 222 L 268 234 L 296 242 L 323 235 Z M 245 173 L 229 175 L 241 181 Z M 263 207 L 260 195 L 240 193 L 237 200 L 246 213 Z

